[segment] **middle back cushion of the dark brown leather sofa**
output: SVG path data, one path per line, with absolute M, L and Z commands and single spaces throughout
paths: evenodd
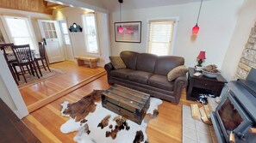
M 141 53 L 137 58 L 136 70 L 153 73 L 158 57 L 153 54 Z

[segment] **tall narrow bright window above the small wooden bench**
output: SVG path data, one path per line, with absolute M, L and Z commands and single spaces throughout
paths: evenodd
M 90 53 L 98 53 L 97 44 L 97 23 L 95 14 L 83 15 L 84 20 L 84 39 L 86 44 L 86 51 Z

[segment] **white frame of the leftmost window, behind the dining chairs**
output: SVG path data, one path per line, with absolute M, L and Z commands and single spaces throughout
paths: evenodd
M 34 28 L 32 27 L 30 17 L 16 17 L 16 16 L 9 16 L 9 15 L 1 16 L 1 19 L 3 21 L 3 27 L 6 29 L 6 33 L 7 33 L 7 36 L 9 38 L 9 42 L 14 43 L 14 39 L 12 37 L 12 34 L 10 33 L 9 26 L 7 24 L 7 21 L 5 21 L 5 18 L 22 19 L 22 20 L 27 21 L 28 33 L 31 36 L 31 39 L 32 39 L 32 42 L 33 42 L 33 45 L 34 45 L 34 50 L 36 51 L 36 53 L 38 53 L 39 52 L 38 51 L 38 45 L 37 45 L 37 41 L 35 39 Z

